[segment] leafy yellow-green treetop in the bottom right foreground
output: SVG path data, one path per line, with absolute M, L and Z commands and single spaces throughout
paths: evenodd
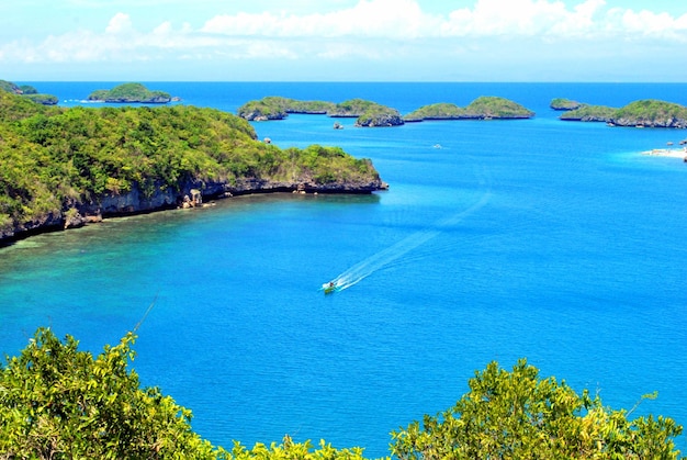
M 682 426 L 604 407 L 519 360 L 491 362 L 448 411 L 392 433 L 399 459 L 676 459 Z M 651 396 L 645 396 L 651 397 Z

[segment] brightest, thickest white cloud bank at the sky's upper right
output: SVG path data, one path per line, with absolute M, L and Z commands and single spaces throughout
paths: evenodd
M 621 15 L 620 20 L 618 15 Z M 606 9 L 586 0 L 572 9 L 551 0 L 477 0 L 447 15 L 425 13 L 415 0 L 360 0 L 354 7 L 306 15 L 237 13 L 216 15 L 201 32 L 255 37 L 484 37 L 508 35 L 595 38 L 609 32 L 679 37 L 687 42 L 687 14 Z

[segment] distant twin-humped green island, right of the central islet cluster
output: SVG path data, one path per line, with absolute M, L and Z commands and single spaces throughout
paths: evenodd
M 465 108 L 447 102 L 424 105 L 403 119 L 406 122 L 421 122 L 423 120 L 513 120 L 532 116 L 534 112 L 517 102 L 494 96 L 483 96 Z

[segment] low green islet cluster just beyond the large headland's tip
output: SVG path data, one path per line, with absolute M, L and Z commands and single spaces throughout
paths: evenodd
M 363 99 L 350 99 L 340 103 L 326 101 L 300 101 L 270 96 L 248 101 L 238 108 L 238 116 L 248 121 L 284 120 L 290 113 L 353 117 L 356 126 L 397 126 L 403 119 L 396 109 Z

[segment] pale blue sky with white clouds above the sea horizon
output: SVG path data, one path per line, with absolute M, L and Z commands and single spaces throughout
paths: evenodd
M 684 0 L 0 3 L 10 81 L 687 81 Z

